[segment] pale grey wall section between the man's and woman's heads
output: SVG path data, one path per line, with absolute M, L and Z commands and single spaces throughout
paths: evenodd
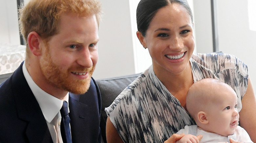
M 99 24 L 99 60 L 95 79 L 135 73 L 128 0 L 101 0 L 104 15 Z

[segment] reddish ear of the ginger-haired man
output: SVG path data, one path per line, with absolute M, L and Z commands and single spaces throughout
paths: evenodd
M 41 37 L 35 32 L 32 31 L 28 35 L 28 45 L 30 48 L 30 51 L 35 55 L 35 56 L 40 56 L 41 55 L 41 48 L 40 44 L 43 42 Z

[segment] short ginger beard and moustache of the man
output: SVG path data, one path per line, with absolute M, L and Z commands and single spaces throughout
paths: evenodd
M 44 77 L 52 86 L 75 94 L 83 94 L 89 89 L 91 77 L 95 70 L 95 66 L 84 68 L 78 65 L 70 67 L 67 71 L 61 71 L 62 67 L 53 63 L 49 54 L 49 47 L 46 47 L 45 56 L 40 60 L 40 68 Z M 71 71 L 89 72 L 89 76 L 86 79 L 78 79 L 71 75 L 73 74 Z

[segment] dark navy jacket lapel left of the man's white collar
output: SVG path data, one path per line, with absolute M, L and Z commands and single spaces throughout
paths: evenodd
M 22 65 L 12 75 L 12 91 L 18 118 L 28 122 L 26 135 L 32 143 L 53 142 L 46 120 L 22 71 Z

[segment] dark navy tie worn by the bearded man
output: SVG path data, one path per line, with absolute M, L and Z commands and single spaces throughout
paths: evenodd
M 70 118 L 68 113 L 68 103 L 63 101 L 63 105 L 60 109 L 61 122 L 60 122 L 60 133 L 63 143 L 72 143 L 71 133 L 70 133 Z

